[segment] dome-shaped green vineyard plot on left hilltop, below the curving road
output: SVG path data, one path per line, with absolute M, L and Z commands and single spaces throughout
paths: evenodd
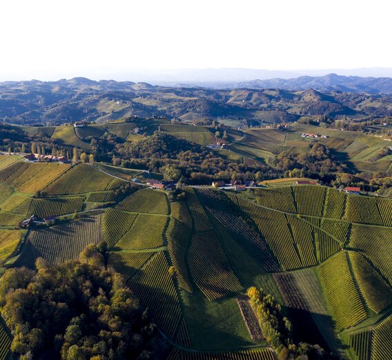
M 50 183 L 44 192 L 50 195 L 86 194 L 120 188 L 125 180 L 112 177 L 94 166 L 79 163 Z

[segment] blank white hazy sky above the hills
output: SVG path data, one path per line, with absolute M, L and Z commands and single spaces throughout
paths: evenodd
M 392 1 L 0 2 L 0 80 L 130 68 L 392 67 Z

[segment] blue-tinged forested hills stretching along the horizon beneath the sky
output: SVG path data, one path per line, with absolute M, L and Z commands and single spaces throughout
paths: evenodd
M 392 117 L 392 79 L 330 74 L 246 81 L 233 83 L 231 88 L 155 86 L 84 77 L 0 83 L 0 119 L 8 123 L 101 123 L 132 115 L 184 121 L 225 119 L 234 126 L 295 121 L 304 115 Z

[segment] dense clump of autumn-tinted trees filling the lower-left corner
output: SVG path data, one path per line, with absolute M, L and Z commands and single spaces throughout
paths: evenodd
M 36 270 L 11 268 L 0 279 L 1 316 L 19 359 L 159 359 L 155 326 L 121 275 L 105 266 L 105 245 L 79 261 Z

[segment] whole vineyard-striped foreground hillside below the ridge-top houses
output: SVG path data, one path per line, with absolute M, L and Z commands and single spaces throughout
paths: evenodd
M 170 359 L 272 359 L 271 339 L 253 338 L 259 325 L 250 326 L 244 310 L 251 286 L 280 301 L 295 341 L 342 358 L 388 356 L 392 199 L 306 185 L 241 194 L 133 188 L 117 197 L 128 181 L 87 164 L 66 166 L 48 180 L 45 197 L 33 197 L 20 189 L 54 170 L 26 166 L 0 170 L 1 266 L 76 259 L 104 239 L 108 264 L 167 337 Z M 31 175 L 17 181 L 19 173 Z M 26 235 L 18 223 L 31 214 L 66 219 Z M 9 340 L 0 344 L 6 354 Z

